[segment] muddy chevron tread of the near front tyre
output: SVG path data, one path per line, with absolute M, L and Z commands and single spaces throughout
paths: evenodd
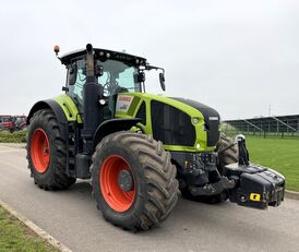
M 143 165 L 146 182 L 146 193 L 142 195 L 146 203 L 143 212 L 136 217 L 134 224 L 123 224 L 130 230 L 146 230 L 158 226 L 174 209 L 178 201 L 178 181 L 176 179 L 176 167 L 170 163 L 170 155 L 164 151 L 162 142 L 153 136 L 132 132 L 117 132 L 106 136 L 96 147 L 93 159 L 101 147 L 111 142 L 120 142 L 123 146 L 134 151 L 140 163 Z M 154 164 L 154 165 L 153 165 Z M 91 169 L 98 169 L 93 163 Z M 94 172 L 92 172 L 94 173 Z M 92 180 L 95 180 L 92 177 Z M 94 184 L 94 181 L 93 181 Z M 97 203 L 100 208 L 100 205 Z M 105 215 L 105 214 L 104 214 Z M 113 224 L 113 219 L 104 216 Z

